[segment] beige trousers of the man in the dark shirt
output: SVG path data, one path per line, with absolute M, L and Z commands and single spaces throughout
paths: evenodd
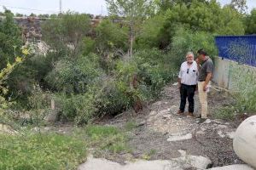
M 210 85 L 209 82 L 208 85 Z M 208 102 L 207 102 L 207 92 L 204 91 L 205 82 L 198 82 L 198 96 L 201 104 L 201 118 L 207 118 L 208 114 Z

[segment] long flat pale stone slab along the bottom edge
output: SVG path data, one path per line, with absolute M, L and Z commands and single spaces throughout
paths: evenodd
M 87 161 L 79 166 L 79 170 L 183 170 L 184 168 L 206 169 L 212 163 L 203 156 L 189 156 L 179 150 L 181 157 L 171 160 L 144 161 L 138 160 L 120 165 L 106 159 L 88 157 Z

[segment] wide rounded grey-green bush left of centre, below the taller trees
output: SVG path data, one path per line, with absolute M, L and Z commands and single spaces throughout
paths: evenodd
M 73 60 L 59 60 L 45 80 L 52 90 L 78 94 L 86 92 L 87 85 L 100 77 L 101 73 L 96 54 L 80 55 Z

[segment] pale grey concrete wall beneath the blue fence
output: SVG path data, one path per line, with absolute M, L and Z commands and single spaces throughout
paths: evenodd
M 233 90 L 236 89 L 237 82 L 242 81 L 247 76 L 248 72 L 256 75 L 256 67 L 241 65 L 229 59 L 216 57 L 214 59 L 212 81 L 216 82 L 221 88 Z

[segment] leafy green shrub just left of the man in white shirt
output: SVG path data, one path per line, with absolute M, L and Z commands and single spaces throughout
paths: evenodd
M 164 54 L 158 49 L 146 49 L 134 56 L 138 65 L 138 77 L 148 88 L 148 95 L 158 96 L 160 89 L 173 80 L 177 72 L 177 65 L 172 56 Z

